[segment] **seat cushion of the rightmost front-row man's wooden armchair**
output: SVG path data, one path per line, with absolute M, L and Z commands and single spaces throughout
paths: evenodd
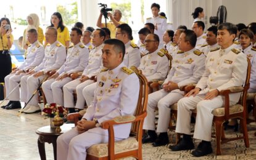
M 236 104 L 233 106 L 229 107 L 229 114 L 235 114 L 235 113 L 241 113 L 242 111 L 244 111 L 244 107 L 240 104 Z M 225 114 L 225 108 L 221 107 L 221 108 L 216 108 L 215 110 L 212 111 L 213 116 L 224 116 Z

